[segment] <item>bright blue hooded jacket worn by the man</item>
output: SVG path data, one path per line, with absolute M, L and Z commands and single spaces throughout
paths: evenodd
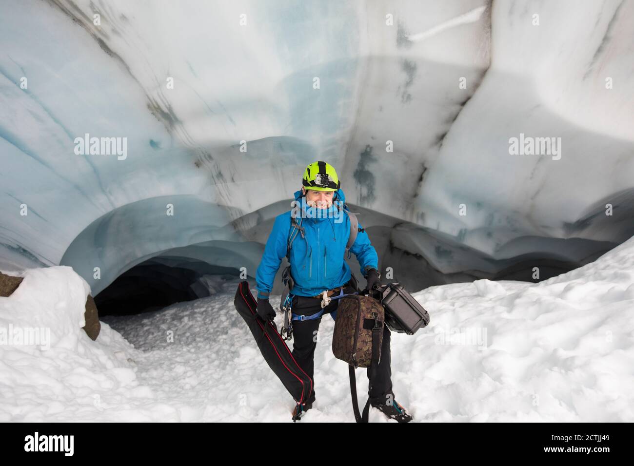
M 301 197 L 302 191 L 295 191 L 295 200 L 301 201 Z M 311 218 L 302 219 L 297 216 L 297 221 L 302 221 L 306 238 L 302 238 L 298 230 L 290 249 L 290 275 L 295 282 L 292 290 L 294 295 L 315 296 L 323 290 L 344 285 L 351 278 L 350 267 L 344 261 L 346 244 L 350 237 L 350 219 L 347 214 L 337 211 L 334 202 L 337 199 L 342 203 L 346 202 L 344 192 L 340 189 L 335 191 L 333 204 L 327 209 L 331 214 L 335 212 L 336 217 L 316 217 L 312 214 L 316 210 L 313 207 L 304 210 L 311 211 Z M 289 235 L 294 230 L 290 213 L 291 210 L 288 210 L 275 217 L 273 230 L 264 247 L 262 261 L 256 271 L 259 298 L 268 298 L 281 260 L 287 254 Z M 377 251 L 370 244 L 368 233 L 359 231 L 350 251 L 359 261 L 364 275 L 368 268 L 378 270 Z

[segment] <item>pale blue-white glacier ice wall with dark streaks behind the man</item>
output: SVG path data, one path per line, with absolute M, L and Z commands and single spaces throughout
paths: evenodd
M 634 234 L 633 20 L 632 0 L 4 1 L 0 268 L 70 265 L 93 294 L 160 257 L 253 276 L 314 160 L 412 290 L 574 268 Z M 76 155 L 84 134 L 125 159 Z M 560 159 L 510 155 L 520 134 Z

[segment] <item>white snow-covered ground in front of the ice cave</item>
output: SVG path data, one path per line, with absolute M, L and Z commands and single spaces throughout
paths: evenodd
M 79 275 L 56 266 L 23 276 L 0 298 L 0 328 L 48 327 L 50 340 L 0 344 L 0 421 L 290 422 L 294 401 L 233 307 L 237 282 L 105 318 L 93 342 L 81 330 L 89 287 Z M 544 282 L 479 280 L 415 297 L 431 322 L 392 333 L 392 381 L 416 421 L 634 421 L 634 238 Z M 354 421 L 333 326 L 323 318 L 317 401 L 302 422 Z M 371 410 L 370 421 L 386 420 Z

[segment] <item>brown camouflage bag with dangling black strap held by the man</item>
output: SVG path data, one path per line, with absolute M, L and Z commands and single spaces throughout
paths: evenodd
M 359 414 L 354 369 L 372 367 L 373 373 L 377 373 L 378 361 L 381 359 L 384 321 L 384 307 L 373 297 L 348 295 L 339 301 L 332 337 L 332 353 L 335 358 L 349 364 L 350 392 L 354 418 L 357 422 L 368 422 L 370 399 L 363 409 L 363 415 Z

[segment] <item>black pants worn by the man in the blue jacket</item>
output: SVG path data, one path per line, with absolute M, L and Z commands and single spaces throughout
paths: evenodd
M 350 282 L 346 283 L 344 287 L 344 294 L 354 293 L 356 288 L 351 285 Z M 337 293 L 339 294 L 339 293 Z M 336 294 L 335 294 L 336 295 Z M 339 306 L 340 299 L 334 299 L 330 301 L 330 304 L 324 308 L 323 315 L 336 311 Z M 321 299 L 311 298 L 306 296 L 293 296 L 292 300 L 292 313 L 303 314 L 305 316 L 311 316 L 321 311 Z M 314 384 L 314 353 L 317 347 L 316 335 L 321 323 L 321 317 L 313 320 L 295 320 L 293 321 L 293 358 L 301 366 L 302 370 L 306 372 Z M 383 326 L 383 344 L 381 347 L 381 359 L 378 363 L 377 373 L 372 373 L 372 368 L 368 367 L 368 380 L 372 382 L 374 377 L 374 383 L 370 383 L 370 389 L 368 395 L 372 403 L 385 403 L 388 399 L 394 399 L 394 392 L 392 392 L 392 368 L 390 366 L 390 335 L 391 332 L 387 325 Z M 342 361 L 343 363 L 343 361 Z M 313 385 L 314 394 L 314 385 Z

